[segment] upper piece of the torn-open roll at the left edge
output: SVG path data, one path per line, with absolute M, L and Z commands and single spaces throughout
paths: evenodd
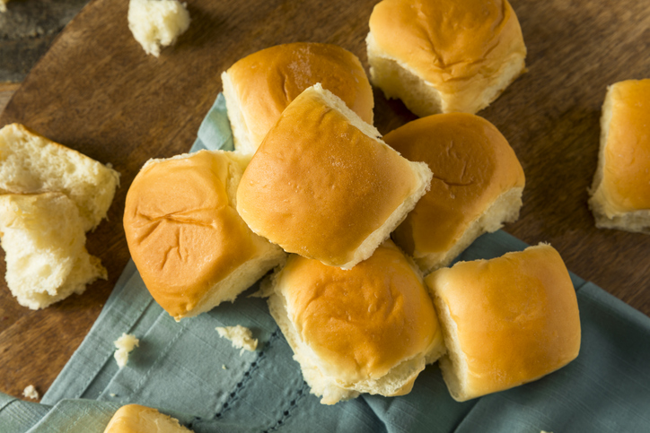
M 0 194 L 65 193 L 76 204 L 84 231 L 106 217 L 119 173 L 19 124 L 0 130 Z

